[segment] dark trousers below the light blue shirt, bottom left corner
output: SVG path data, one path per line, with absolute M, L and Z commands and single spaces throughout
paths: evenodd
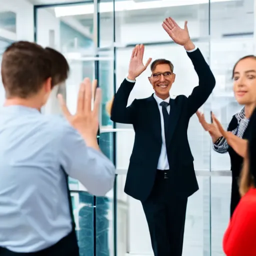
M 6 248 L 0 247 L 0 256 L 79 256 L 79 248 L 76 240 L 75 231 L 71 231 L 67 236 L 63 237 L 54 245 L 37 251 L 20 253 L 13 252 Z

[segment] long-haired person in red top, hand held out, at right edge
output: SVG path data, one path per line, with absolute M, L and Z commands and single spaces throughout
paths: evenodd
M 229 145 L 237 147 L 239 141 L 236 136 L 224 131 L 218 120 L 214 116 L 213 118 Z M 251 115 L 248 129 L 249 137 L 246 140 L 246 152 L 239 180 L 241 199 L 223 237 L 226 256 L 256 256 L 256 109 Z

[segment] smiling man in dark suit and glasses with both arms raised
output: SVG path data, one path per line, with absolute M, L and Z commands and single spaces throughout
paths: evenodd
M 175 80 L 173 65 L 166 59 L 151 64 L 148 78 L 155 93 L 148 98 L 127 100 L 143 65 L 143 45 L 132 51 L 128 76 L 117 90 L 111 119 L 133 124 L 135 140 L 124 191 L 141 201 L 155 256 L 181 256 L 187 197 L 198 189 L 193 156 L 187 140 L 189 118 L 206 101 L 214 76 L 200 50 L 189 37 L 187 22 L 180 28 L 172 18 L 162 24 L 174 42 L 184 46 L 199 77 L 191 95 L 170 99 Z M 185 72 L 185 70 L 184 70 Z M 185 74 L 185 73 L 184 73 Z

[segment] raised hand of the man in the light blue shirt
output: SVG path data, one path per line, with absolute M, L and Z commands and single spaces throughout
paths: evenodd
M 81 82 L 78 92 L 76 113 L 74 115 L 70 114 L 61 94 L 58 94 L 58 99 L 65 118 L 80 133 L 87 146 L 99 149 L 96 137 L 98 131 L 98 111 L 101 100 L 101 90 L 96 84 L 97 81 L 93 80 L 91 85 L 89 78 L 85 78 Z M 93 109 L 91 107 L 92 102 L 94 103 Z

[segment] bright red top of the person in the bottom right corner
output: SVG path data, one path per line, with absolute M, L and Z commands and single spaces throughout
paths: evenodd
M 246 195 L 244 195 L 246 196 Z M 223 237 L 227 256 L 254 256 L 256 236 L 256 208 L 254 201 L 239 203 Z

